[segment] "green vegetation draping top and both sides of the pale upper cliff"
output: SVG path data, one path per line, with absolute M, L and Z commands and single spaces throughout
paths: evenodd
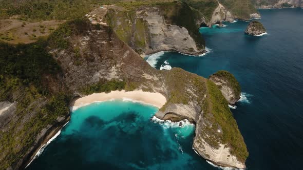
M 132 49 L 141 54 L 146 48 L 146 42 L 149 41 L 148 24 L 137 16 L 135 9 L 140 6 L 158 7 L 161 15 L 164 16 L 167 23 L 185 27 L 190 35 L 195 39 L 197 47 L 203 49 L 205 41 L 199 32 L 199 26 L 196 20 L 202 17 L 202 14 L 191 8 L 185 3 L 180 2 L 132 2 L 119 3 L 128 10 L 109 9 L 106 15 L 108 25 L 115 30 L 118 37 L 128 44 Z M 139 14 L 140 16 L 141 14 Z M 143 14 L 142 14 L 143 15 Z M 154 34 L 150 36 L 156 36 Z

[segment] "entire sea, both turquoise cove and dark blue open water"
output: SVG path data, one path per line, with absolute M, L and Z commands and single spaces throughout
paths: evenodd
M 210 49 L 204 56 L 165 52 L 147 60 L 204 77 L 233 73 L 242 87 L 232 112 L 249 150 L 247 169 L 302 169 L 303 9 L 259 12 L 267 35 L 245 35 L 248 22 L 224 23 L 200 29 Z M 192 150 L 192 125 L 153 122 L 156 112 L 119 100 L 80 108 L 28 169 L 217 169 Z

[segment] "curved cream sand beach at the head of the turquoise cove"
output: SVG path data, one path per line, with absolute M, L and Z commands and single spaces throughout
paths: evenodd
M 166 103 L 166 98 L 160 93 L 143 92 L 142 90 L 125 92 L 124 90 L 122 90 L 112 91 L 110 93 L 94 93 L 85 97 L 81 97 L 71 104 L 70 110 L 74 111 L 94 102 L 102 102 L 114 99 L 141 102 L 145 104 L 154 105 L 159 109 L 162 108 L 162 106 Z

